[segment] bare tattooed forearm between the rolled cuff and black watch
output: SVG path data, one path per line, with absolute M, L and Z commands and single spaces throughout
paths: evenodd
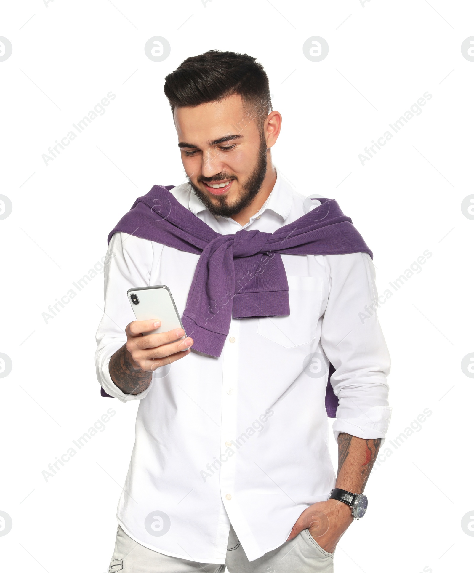
M 336 487 L 362 493 L 377 458 L 381 439 L 362 439 L 341 432 Z

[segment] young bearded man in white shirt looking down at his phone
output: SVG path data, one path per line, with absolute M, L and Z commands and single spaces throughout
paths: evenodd
M 390 418 L 371 252 L 273 166 L 281 115 L 254 58 L 188 58 L 164 92 L 188 180 L 109 235 L 97 331 L 101 386 L 140 400 L 109 571 L 330 572 Z M 159 284 L 184 339 L 134 320 L 127 289 Z

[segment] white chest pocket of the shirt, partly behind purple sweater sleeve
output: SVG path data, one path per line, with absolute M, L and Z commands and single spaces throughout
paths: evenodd
M 289 316 L 258 319 L 259 335 L 285 348 L 314 340 L 322 303 L 322 279 L 287 275 Z

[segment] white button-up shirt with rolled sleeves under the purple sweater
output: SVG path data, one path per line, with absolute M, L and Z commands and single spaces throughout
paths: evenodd
M 307 212 L 304 197 L 280 175 L 244 227 L 214 217 L 187 183 L 171 193 L 221 234 L 272 233 Z M 127 290 L 167 285 L 182 314 L 199 256 L 126 233 L 113 235 L 108 256 L 97 378 L 120 401 L 140 400 L 120 526 L 151 550 L 225 563 L 232 523 L 248 559 L 257 559 L 283 544 L 301 512 L 335 485 L 327 359 L 336 368 L 335 437 L 385 438 L 390 357 L 374 312 L 372 261 L 366 253 L 282 254 L 289 316 L 232 319 L 220 358 L 191 350 L 130 395 L 108 371 L 135 320 Z

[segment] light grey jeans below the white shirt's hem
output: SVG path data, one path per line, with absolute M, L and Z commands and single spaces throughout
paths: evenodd
M 319 547 L 308 529 L 249 562 L 231 526 L 225 565 L 219 565 L 187 561 L 152 551 L 136 543 L 119 525 L 109 573 L 224 573 L 226 567 L 230 573 L 333 573 L 333 560 L 334 555 Z

